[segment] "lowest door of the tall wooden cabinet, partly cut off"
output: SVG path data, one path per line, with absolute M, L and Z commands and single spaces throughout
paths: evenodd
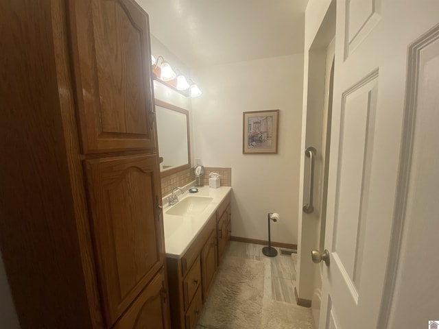
M 169 329 L 169 301 L 162 269 L 117 321 L 114 329 Z

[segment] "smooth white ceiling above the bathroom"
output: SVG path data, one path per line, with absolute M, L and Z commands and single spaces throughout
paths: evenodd
M 190 69 L 303 51 L 308 0 L 137 0 Z

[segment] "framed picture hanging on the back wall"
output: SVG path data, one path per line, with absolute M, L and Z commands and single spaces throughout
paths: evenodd
M 277 154 L 279 110 L 244 112 L 242 153 Z

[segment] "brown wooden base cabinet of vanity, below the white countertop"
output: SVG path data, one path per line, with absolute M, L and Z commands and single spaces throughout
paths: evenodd
M 222 215 L 220 219 L 218 219 L 219 213 Z M 226 248 L 228 228 L 230 228 L 230 193 L 206 221 L 204 228 L 187 247 L 185 254 L 181 258 L 167 257 L 173 329 L 194 329 L 197 325 L 215 278 L 219 256 L 224 254 Z

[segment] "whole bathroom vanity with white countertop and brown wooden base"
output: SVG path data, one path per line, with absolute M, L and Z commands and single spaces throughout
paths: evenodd
M 198 323 L 230 238 L 230 191 L 228 186 L 202 187 L 163 209 L 174 329 L 193 329 Z

